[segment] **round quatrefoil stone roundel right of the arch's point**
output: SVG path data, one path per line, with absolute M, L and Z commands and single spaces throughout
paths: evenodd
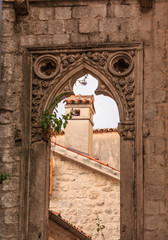
M 108 60 L 108 69 L 118 77 L 127 76 L 133 69 L 134 63 L 131 56 L 126 52 L 112 55 Z

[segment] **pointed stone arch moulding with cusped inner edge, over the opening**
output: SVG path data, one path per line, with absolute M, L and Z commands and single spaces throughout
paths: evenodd
M 124 121 L 125 119 L 122 101 L 118 92 L 111 83 L 112 81 L 107 79 L 105 74 L 101 73 L 98 69 L 95 69 L 93 66 L 91 66 L 85 61 L 83 61 L 79 66 L 74 67 L 72 70 L 68 71 L 67 74 L 62 77 L 61 81 L 56 81 L 55 85 L 53 86 L 51 92 L 48 95 L 43 110 L 47 109 L 47 107 L 49 106 L 50 99 L 54 99 L 58 94 L 66 91 L 70 92 L 70 94 L 73 94 L 74 83 L 78 78 L 82 77 L 86 73 L 91 74 L 98 80 L 98 87 L 95 91 L 97 95 L 102 94 L 105 96 L 109 96 L 116 101 L 119 109 L 120 120 Z

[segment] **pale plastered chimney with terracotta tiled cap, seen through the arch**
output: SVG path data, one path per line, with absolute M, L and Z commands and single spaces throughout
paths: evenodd
M 71 95 L 64 102 L 66 114 L 74 111 L 65 129 L 65 146 L 92 155 L 94 96 Z

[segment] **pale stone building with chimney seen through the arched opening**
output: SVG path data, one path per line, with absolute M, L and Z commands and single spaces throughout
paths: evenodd
M 116 129 L 93 131 L 93 95 L 73 95 L 65 102 L 66 112 L 73 109 L 74 115 L 65 134 L 63 131 L 51 140 L 49 209 L 59 212 L 92 239 L 102 240 L 96 225 L 99 218 L 105 226 L 105 239 L 118 240 L 119 134 Z

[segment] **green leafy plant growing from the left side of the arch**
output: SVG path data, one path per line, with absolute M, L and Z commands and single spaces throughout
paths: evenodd
M 57 117 L 58 110 L 56 109 L 58 106 L 58 103 L 66 98 L 66 95 L 68 95 L 69 92 L 64 92 L 60 94 L 49 106 L 48 109 L 46 109 L 43 112 L 42 118 L 41 118 L 41 126 L 47 135 L 47 137 L 51 137 L 54 133 L 60 133 L 62 127 L 66 128 L 66 125 L 68 124 L 68 120 L 72 119 L 73 116 L 73 109 L 70 111 L 70 113 L 61 115 L 61 117 Z M 53 109 L 55 108 L 54 112 Z

